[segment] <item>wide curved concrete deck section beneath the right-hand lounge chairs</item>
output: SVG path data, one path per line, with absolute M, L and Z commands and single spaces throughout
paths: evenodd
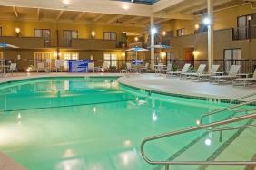
M 256 85 L 233 87 L 231 84 L 210 84 L 207 81 L 180 80 L 177 77 L 166 78 L 164 76 L 156 76 L 155 74 L 137 74 L 131 75 L 130 77 L 123 76 L 118 81 L 122 84 L 143 90 L 207 99 L 231 100 L 256 92 Z M 253 99 L 256 99 L 256 97 Z

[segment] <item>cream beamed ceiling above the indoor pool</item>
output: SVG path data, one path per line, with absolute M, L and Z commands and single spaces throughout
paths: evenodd
M 68 3 L 63 4 L 64 1 Z M 205 14 L 207 8 L 206 0 L 158 0 L 153 5 L 136 2 L 154 0 L 135 0 L 135 3 L 129 0 L 129 3 L 124 4 L 120 1 L 44 0 L 44 3 L 40 3 L 31 0 L 0 0 L 0 19 L 145 27 L 150 24 L 152 14 L 154 23 L 162 24 L 172 19 L 195 19 L 198 14 Z M 214 10 L 250 4 L 248 1 L 214 0 Z M 123 9 L 123 5 L 128 5 L 128 8 Z

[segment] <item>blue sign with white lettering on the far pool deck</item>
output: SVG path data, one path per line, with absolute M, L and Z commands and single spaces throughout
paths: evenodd
M 90 60 L 69 60 L 69 72 L 88 72 L 88 63 Z

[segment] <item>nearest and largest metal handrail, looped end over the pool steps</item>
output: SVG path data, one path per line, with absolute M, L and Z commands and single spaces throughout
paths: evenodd
M 204 128 L 226 125 L 229 123 L 238 122 L 241 120 L 251 119 L 251 118 L 256 118 L 256 112 L 251 115 L 245 115 L 245 116 L 241 116 L 241 117 L 237 117 L 237 118 L 230 118 L 227 120 L 217 121 L 217 122 L 213 122 L 211 124 L 206 124 L 206 125 L 202 125 L 202 126 L 198 126 L 198 127 L 189 127 L 189 128 L 185 128 L 182 130 L 164 133 L 164 134 L 153 136 L 153 137 L 147 137 L 143 140 L 143 142 L 141 144 L 141 153 L 142 153 L 143 159 L 147 163 L 152 164 L 152 165 L 165 165 L 166 169 L 169 168 L 169 165 L 256 165 L 256 161 L 153 161 L 153 160 L 149 159 L 147 156 L 145 156 L 145 152 L 144 152 L 144 146 L 149 141 L 161 139 L 164 137 L 172 137 L 172 136 L 176 136 L 176 135 L 181 135 L 184 133 L 201 130 Z

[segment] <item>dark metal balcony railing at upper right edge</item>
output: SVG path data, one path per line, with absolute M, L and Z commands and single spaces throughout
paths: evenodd
M 256 26 L 233 29 L 233 40 L 246 40 L 256 38 Z

